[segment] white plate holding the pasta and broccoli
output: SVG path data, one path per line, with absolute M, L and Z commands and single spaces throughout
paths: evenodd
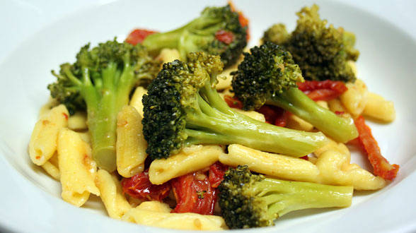
M 282 217 L 275 227 L 256 232 L 410 232 L 416 231 L 416 43 L 405 32 L 365 11 L 330 1 L 318 1 L 323 18 L 355 32 L 361 54 L 359 78 L 395 102 L 393 124 L 370 123 L 383 155 L 400 165 L 398 177 L 376 192 L 356 192 L 350 208 L 304 210 Z M 222 5 L 214 1 L 209 5 Z M 160 232 L 112 220 L 98 198 L 75 208 L 60 198 L 57 181 L 29 160 L 27 145 L 37 113 L 49 95 L 50 70 L 74 55 L 86 42 L 124 38 L 132 28 L 169 30 L 197 16 L 200 1 L 116 1 L 77 11 L 21 43 L 0 64 L 0 225 L 18 232 Z M 310 1 L 238 1 L 250 19 L 250 45 L 272 23 L 294 28 L 295 12 Z M 368 167 L 362 155 L 353 160 Z M 364 162 L 364 163 L 363 163 Z M 0 229 L 1 229 L 0 228 Z

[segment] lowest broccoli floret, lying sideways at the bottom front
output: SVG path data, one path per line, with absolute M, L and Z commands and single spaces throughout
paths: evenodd
M 251 174 L 247 166 L 230 168 L 219 185 L 219 206 L 231 229 L 267 227 L 294 210 L 347 207 L 352 186 L 282 181 Z

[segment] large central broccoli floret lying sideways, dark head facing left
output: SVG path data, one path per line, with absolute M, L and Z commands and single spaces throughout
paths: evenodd
M 273 126 L 233 111 L 216 92 L 219 56 L 191 53 L 188 62 L 163 64 L 143 97 L 143 134 L 152 159 L 192 144 L 229 145 L 304 156 L 327 142 L 322 133 Z

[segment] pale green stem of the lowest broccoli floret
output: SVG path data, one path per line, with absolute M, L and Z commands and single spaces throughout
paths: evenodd
M 294 210 L 347 207 L 351 205 L 352 186 L 331 186 L 299 181 L 263 179 L 253 184 L 268 206 L 271 219 Z M 272 217 L 275 216 L 275 217 Z

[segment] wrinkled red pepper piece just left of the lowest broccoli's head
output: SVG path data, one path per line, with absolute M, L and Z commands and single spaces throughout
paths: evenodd
M 176 207 L 172 213 L 212 215 L 216 189 L 211 187 L 205 172 L 193 172 L 171 180 Z

